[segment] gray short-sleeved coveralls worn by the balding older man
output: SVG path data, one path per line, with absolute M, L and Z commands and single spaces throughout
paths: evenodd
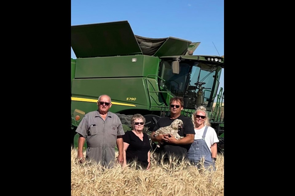
M 124 135 L 122 123 L 116 114 L 108 111 L 103 120 L 98 111 L 89 112 L 81 120 L 76 132 L 86 138 L 86 159 L 113 166 L 117 135 Z

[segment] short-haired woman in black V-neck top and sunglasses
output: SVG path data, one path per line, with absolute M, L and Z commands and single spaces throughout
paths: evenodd
M 123 135 L 124 165 L 137 161 L 143 169 L 149 169 L 150 143 L 148 135 L 143 133 L 145 118 L 141 114 L 133 115 L 131 118 L 132 130 Z

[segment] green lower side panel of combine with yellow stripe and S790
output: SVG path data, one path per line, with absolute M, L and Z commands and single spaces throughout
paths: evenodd
M 95 78 L 73 80 L 72 99 L 73 97 L 81 97 L 93 99 L 95 102 L 72 100 L 72 112 L 75 108 L 81 108 L 86 113 L 96 110 L 96 100 L 102 94 L 107 94 L 112 98 L 113 104 L 110 108 L 112 112 L 126 109 L 148 109 L 148 96 L 144 78 Z M 114 104 L 114 102 L 118 104 Z M 80 104 L 82 105 L 80 106 Z M 136 107 L 124 104 L 131 104 Z

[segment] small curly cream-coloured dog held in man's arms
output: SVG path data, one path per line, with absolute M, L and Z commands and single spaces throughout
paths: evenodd
M 178 129 L 182 128 L 182 126 L 182 120 L 176 119 L 171 123 L 171 125 L 160 127 L 158 130 L 156 130 L 154 137 L 158 136 L 159 134 L 170 134 L 173 135 L 177 140 L 180 140 L 181 138 L 184 138 L 180 137 L 178 134 Z M 160 143 L 163 144 L 163 141 L 160 141 Z

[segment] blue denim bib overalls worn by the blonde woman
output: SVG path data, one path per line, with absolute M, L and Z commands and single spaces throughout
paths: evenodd
M 211 152 L 208 148 L 205 136 L 207 133 L 208 126 L 205 127 L 202 139 L 194 140 L 194 143 L 191 144 L 191 148 L 187 152 L 187 157 L 191 161 L 191 163 L 195 164 L 198 168 L 200 165 L 197 165 L 200 163 L 201 158 L 204 157 L 204 167 L 209 168 L 210 165 L 213 166 L 213 171 L 215 171 L 215 161 L 213 162 L 211 158 Z

